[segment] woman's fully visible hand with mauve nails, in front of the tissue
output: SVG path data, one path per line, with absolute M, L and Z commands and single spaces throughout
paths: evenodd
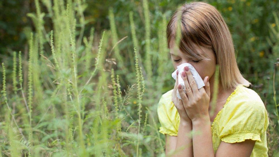
M 209 117 L 210 87 L 208 76 L 204 78 L 205 86 L 198 89 L 189 67 L 184 67 L 181 75 L 184 80 L 186 93 L 182 90 L 181 85 L 178 85 L 178 91 L 189 118 L 192 122 L 195 122 L 203 120 L 207 116 Z

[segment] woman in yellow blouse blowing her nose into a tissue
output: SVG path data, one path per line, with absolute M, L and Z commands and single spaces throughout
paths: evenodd
M 247 88 L 251 83 L 238 69 L 230 31 L 218 10 L 205 2 L 185 3 L 172 15 L 167 38 L 174 68 L 192 64 L 205 86 L 197 88 L 186 66 L 186 93 L 176 79 L 174 89 L 162 95 L 157 112 L 159 132 L 166 135 L 166 155 L 175 151 L 175 156 L 268 156 L 264 103 Z M 218 94 L 210 116 L 216 65 Z

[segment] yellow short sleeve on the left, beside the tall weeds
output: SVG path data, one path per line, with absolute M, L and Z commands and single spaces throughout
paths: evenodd
M 157 113 L 161 124 L 159 132 L 169 134 L 170 136 L 177 136 L 180 117 L 172 102 L 170 91 L 163 94 L 159 100 Z

